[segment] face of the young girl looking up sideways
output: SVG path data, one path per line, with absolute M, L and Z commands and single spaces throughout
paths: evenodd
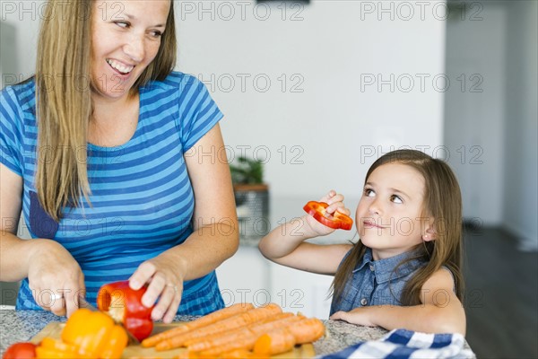
M 360 241 L 374 259 L 394 257 L 421 244 L 432 218 L 422 218 L 425 182 L 419 171 L 402 163 L 374 170 L 364 186 L 355 221 Z

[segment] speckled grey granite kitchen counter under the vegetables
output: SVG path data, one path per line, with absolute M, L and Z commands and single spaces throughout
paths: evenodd
M 193 320 L 195 317 L 178 316 L 178 321 Z M 27 341 L 45 328 L 50 321 L 65 321 L 48 311 L 0 311 L 0 356 L 15 342 Z M 343 321 L 324 320 L 327 335 L 314 343 L 318 355 L 334 353 L 346 346 L 364 340 L 382 337 L 382 328 L 359 327 Z

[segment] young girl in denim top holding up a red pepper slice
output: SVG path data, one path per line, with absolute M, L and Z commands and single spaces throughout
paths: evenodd
M 341 194 L 330 191 L 321 201 L 328 214 L 350 215 Z M 461 208 L 445 162 L 399 150 L 377 159 L 366 175 L 357 244 L 305 242 L 334 230 L 304 215 L 270 232 L 259 248 L 284 266 L 334 275 L 331 320 L 464 335 Z

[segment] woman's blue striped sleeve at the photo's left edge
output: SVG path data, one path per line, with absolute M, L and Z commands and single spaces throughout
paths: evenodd
M 19 124 L 19 126 L 17 126 Z M 0 92 L 0 162 L 22 176 L 22 114 L 11 88 Z

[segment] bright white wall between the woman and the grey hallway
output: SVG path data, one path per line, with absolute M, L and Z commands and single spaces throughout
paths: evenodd
M 329 188 L 359 197 L 368 166 L 390 145 L 441 144 L 443 93 L 432 78 L 444 73 L 445 22 L 436 19 L 431 7 L 423 20 L 420 9 L 412 8 L 414 16 L 405 21 L 409 15 L 404 9 L 398 12 L 397 2 L 391 14 L 368 7 L 380 3 L 312 1 L 288 5 L 282 20 L 280 2 L 224 3 L 234 4 L 235 16 L 222 2 L 213 3 L 213 19 L 200 3 L 194 10 L 193 3 L 177 3 L 178 68 L 199 74 L 210 88 L 213 84 L 233 155 L 239 155 L 241 146 L 250 146 L 247 154 L 256 155 L 257 146 L 262 157 L 266 151 L 260 146 L 268 148 L 266 180 L 273 197 L 316 198 Z M 244 13 L 239 3 L 247 3 Z M 442 16 L 445 3 L 431 4 L 440 4 Z M 260 20 L 267 9 L 270 16 Z M 302 20 L 292 21 L 294 13 Z M 282 74 L 288 81 L 284 91 Z M 377 81 L 377 74 L 389 81 L 380 91 L 377 83 L 361 82 Z M 417 74 L 430 76 L 423 91 Z M 240 76 L 250 76 L 244 88 Z M 413 87 L 405 81 L 409 77 Z M 233 89 L 230 78 L 235 79 Z M 260 89 L 263 78 L 271 80 L 266 92 Z M 292 92 L 299 80 L 302 92 Z M 361 158 L 361 153 L 369 155 Z

